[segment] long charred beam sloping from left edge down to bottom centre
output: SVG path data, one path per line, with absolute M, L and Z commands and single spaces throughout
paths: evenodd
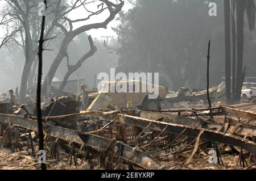
M 0 123 L 7 123 L 11 125 L 19 125 L 19 127 L 29 129 L 30 131 L 38 132 L 38 123 L 36 120 L 24 118 L 23 116 L 7 115 L 0 113 Z M 82 132 L 73 131 L 67 128 L 57 127 L 43 123 L 43 130 L 47 136 L 60 138 L 65 141 L 74 142 L 79 145 L 89 146 L 90 148 L 97 151 L 104 151 L 108 146 L 110 139 L 99 137 L 94 134 L 86 134 Z M 82 139 L 81 139 L 82 138 Z M 119 144 L 123 145 L 122 159 L 128 162 L 132 162 L 144 169 L 158 169 L 160 167 L 159 162 L 144 153 L 141 150 L 134 149 L 131 146 L 118 141 Z M 131 154 L 132 153 L 132 154 Z

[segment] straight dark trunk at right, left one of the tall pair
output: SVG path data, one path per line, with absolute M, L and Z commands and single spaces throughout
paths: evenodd
M 230 0 L 224 0 L 225 16 L 225 80 L 226 80 L 226 104 L 230 104 L 230 75 L 231 75 L 231 56 L 230 56 Z

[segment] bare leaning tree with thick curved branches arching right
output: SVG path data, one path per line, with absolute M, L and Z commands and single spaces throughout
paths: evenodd
M 69 7 L 61 16 L 60 16 L 60 21 L 62 23 L 65 23 L 65 22 L 68 22 L 69 24 L 69 30 L 67 28 L 65 28 L 63 25 L 61 25 L 60 23 L 56 23 L 56 26 L 59 27 L 61 29 L 61 31 L 63 31 L 64 33 L 64 38 L 63 40 L 61 41 L 61 45 L 60 45 L 60 50 L 59 52 L 57 53 L 56 57 L 55 57 L 55 60 L 53 60 L 53 63 L 51 65 L 51 68 L 49 69 L 46 77 L 48 78 L 48 81 L 47 79 L 44 79 L 44 82 L 43 82 L 43 85 L 42 85 L 42 93 L 43 94 L 46 94 L 47 92 L 47 84 L 51 84 L 52 82 L 52 79 L 57 71 L 57 68 L 58 66 L 61 64 L 61 62 L 64 60 L 65 57 L 67 57 L 67 60 L 68 60 L 68 45 L 71 43 L 71 41 L 77 36 L 77 35 L 80 35 L 81 33 L 83 32 L 86 32 L 86 31 L 89 31 L 89 30 L 92 30 L 92 29 L 98 29 L 98 28 L 106 28 L 107 25 L 109 24 L 109 22 L 111 22 L 114 18 L 115 18 L 115 15 L 118 14 L 118 12 L 120 12 L 122 10 L 122 7 L 123 7 L 123 1 L 119 0 L 119 4 L 114 4 L 108 0 L 99 0 L 101 3 L 97 5 L 97 8 L 99 10 L 97 11 L 90 11 L 88 9 L 86 9 L 85 5 L 88 4 L 88 3 L 94 3 L 94 1 L 90 1 L 90 2 L 87 2 L 87 1 L 75 1 L 75 3 L 73 3 L 73 5 L 71 7 Z M 81 6 L 84 6 L 84 9 L 89 12 L 90 14 L 86 17 L 86 18 L 81 18 L 81 19 L 76 19 L 76 20 L 71 20 L 67 17 L 67 14 Z M 84 26 L 81 26 L 75 30 L 73 30 L 73 23 L 76 23 L 76 22 L 85 22 L 86 20 L 90 19 L 91 16 L 93 15 L 98 15 L 98 14 L 101 14 L 102 12 L 104 12 L 105 10 L 108 10 L 110 15 L 108 16 L 108 18 L 106 18 L 104 20 L 104 22 L 102 23 L 92 23 L 92 24 L 86 24 Z M 60 86 L 60 89 L 57 91 L 57 93 L 60 93 L 64 87 L 65 87 L 65 84 L 67 83 L 67 80 L 68 80 L 68 77 L 69 75 L 71 75 L 73 73 L 73 71 L 77 70 L 82 62 L 84 62 L 87 58 L 89 58 L 90 56 L 92 56 L 94 54 L 94 52 L 96 52 L 96 48 L 94 47 L 93 43 L 92 43 L 92 40 L 91 38 L 89 37 L 89 42 L 90 42 L 90 47 L 91 47 L 91 50 L 90 52 L 84 54 L 84 56 L 82 56 L 80 58 L 79 61 L 77 61 L 77 64 L 75 65 L 69 65 L 69 62 L 68 62 L 68 71 L 67 73 L 65 74 L 65 77 L 64 77 L 64 81 L 63 81 L 63 84 Z

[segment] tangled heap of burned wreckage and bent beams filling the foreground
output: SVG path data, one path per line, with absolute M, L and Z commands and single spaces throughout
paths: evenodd
M 2 110 L 1 145 L 22 151 L 23 140 L 24 150 L 35 155 L 38 138 L 32 139 L 31 133 L 38 126 L 33 107 L 20 106 L 11 115 Z M 51 145 L 47 160 L 61 162 L 63 149 L 69 166 L 96 159 L 104 169 L 168 169 L 168 162 L 175 161 L 163 160 L 170 155 L 183 157 L 183 164 L 189 165 L 215 150 L 217 165 L 226 165 L 227 154 L 236 157 L 241 169 L 255 165 L 255 100 L 228 107 L 155 111 L 119 109 L 99 94 L 86 111 L 76 107 L 76 101 L 62 96 L 42 110 L 44 137 Z

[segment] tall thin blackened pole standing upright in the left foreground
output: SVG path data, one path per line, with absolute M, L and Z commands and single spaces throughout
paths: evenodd
M 44 6 L 47 8 L 47 2 L 44 0 Z M 43 68 L 43 43 L 44 43 L 44 26 L 46 23 L 46 15 L 42 17 L 41 35 L 39 39 L 39 64 L 38 64 L 38 87 L 36 90 L 36 107 L 38 111 L 38 137 L 39 137 L 39 150 L 44 150 L 44 135 L 42 126 L 42 110 L 41 110 L 41 80 Z M 46 170 L 46 163 L 41 163 L 41 169 Z

